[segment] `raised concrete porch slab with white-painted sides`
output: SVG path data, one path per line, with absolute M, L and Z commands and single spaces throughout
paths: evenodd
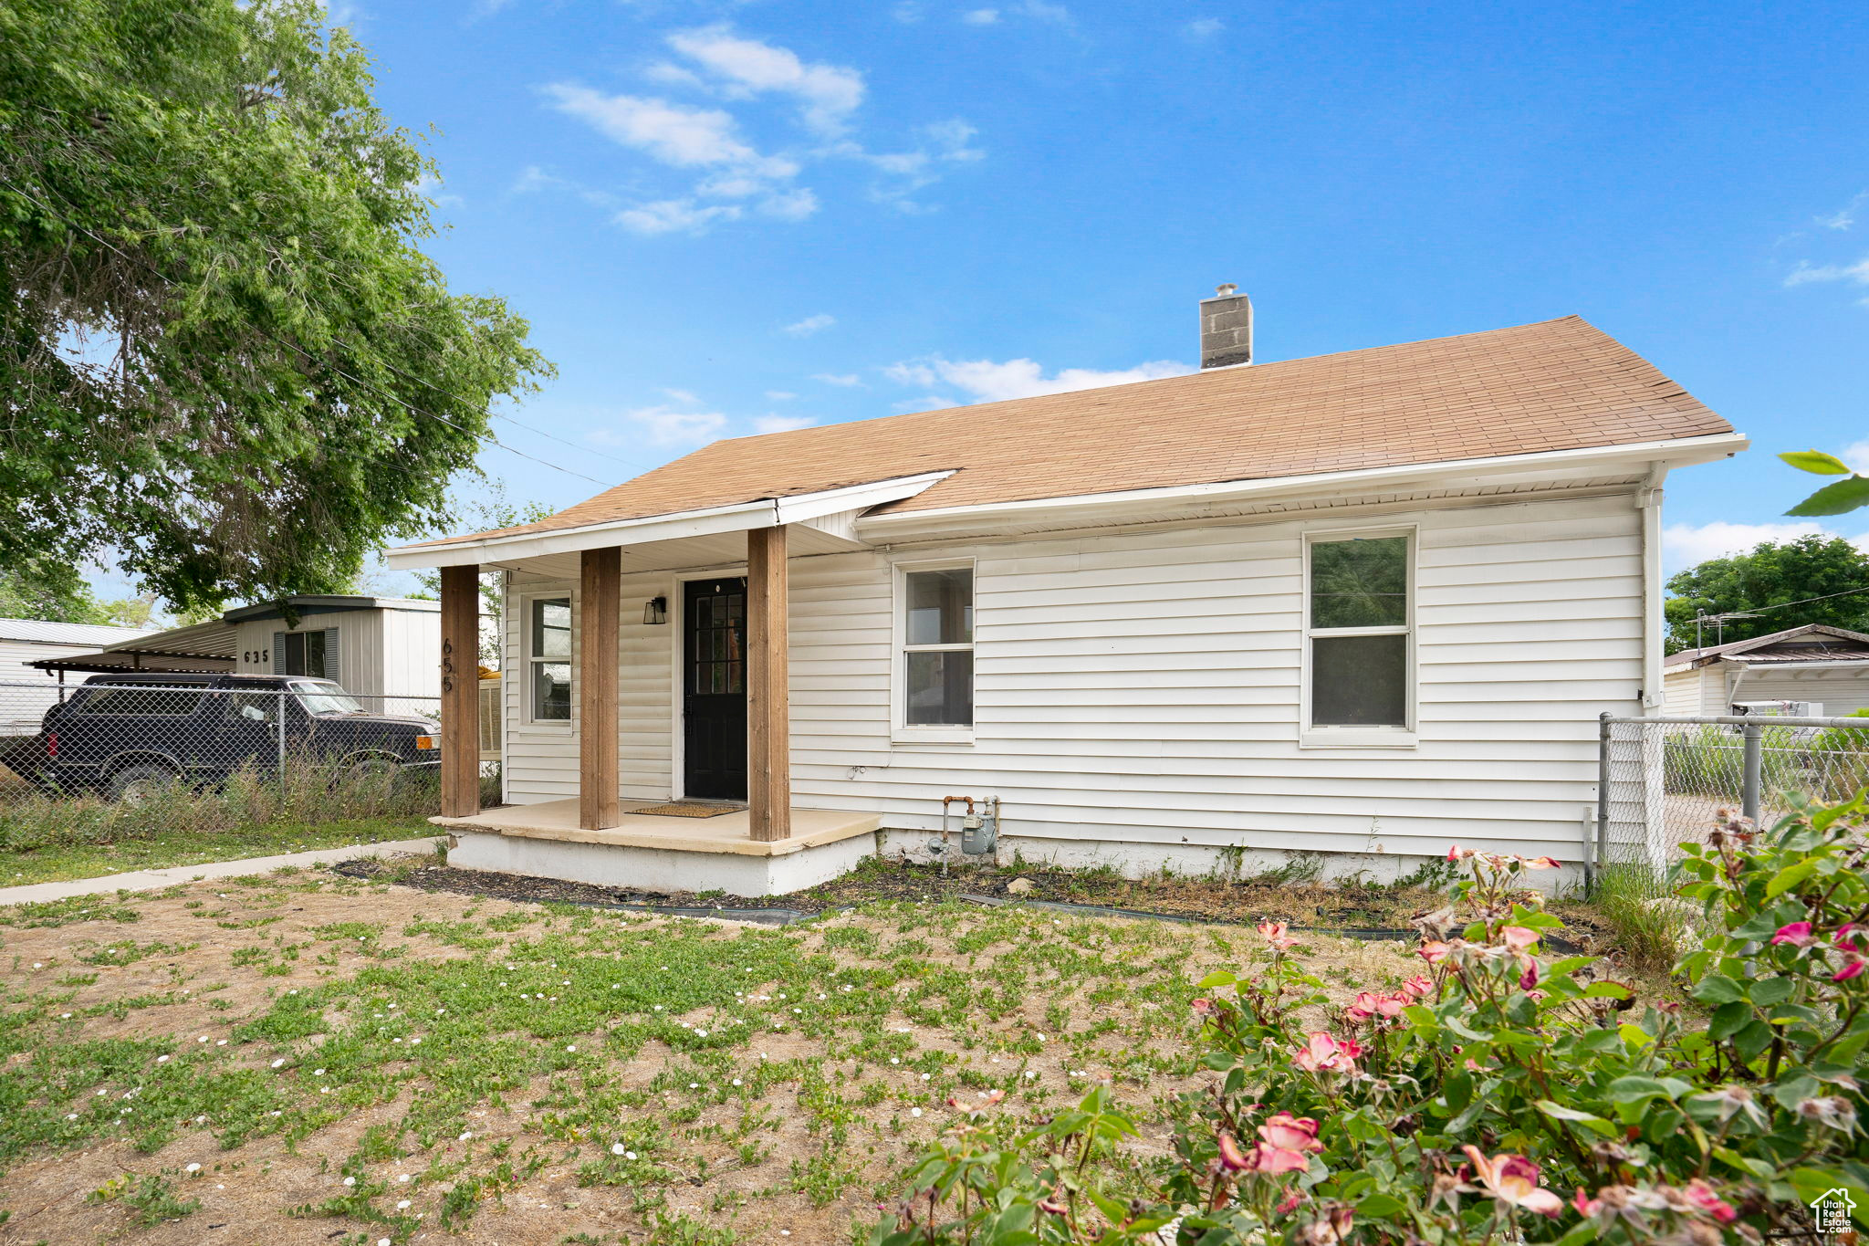
M 792 809 L 792 835 L 748 839 L 749 814 L 712 818 L 634 814 L 656 801 L 622 801 L 622 824 L 578 826 L 578 800 L 506 805 L 469 818 L 430 818 L 454 833 L 449 865 L 563 878 L 641 891 L 725 891 L 763 897 L 804 891 L 847 874 L 877 850 L 880 814 Z

